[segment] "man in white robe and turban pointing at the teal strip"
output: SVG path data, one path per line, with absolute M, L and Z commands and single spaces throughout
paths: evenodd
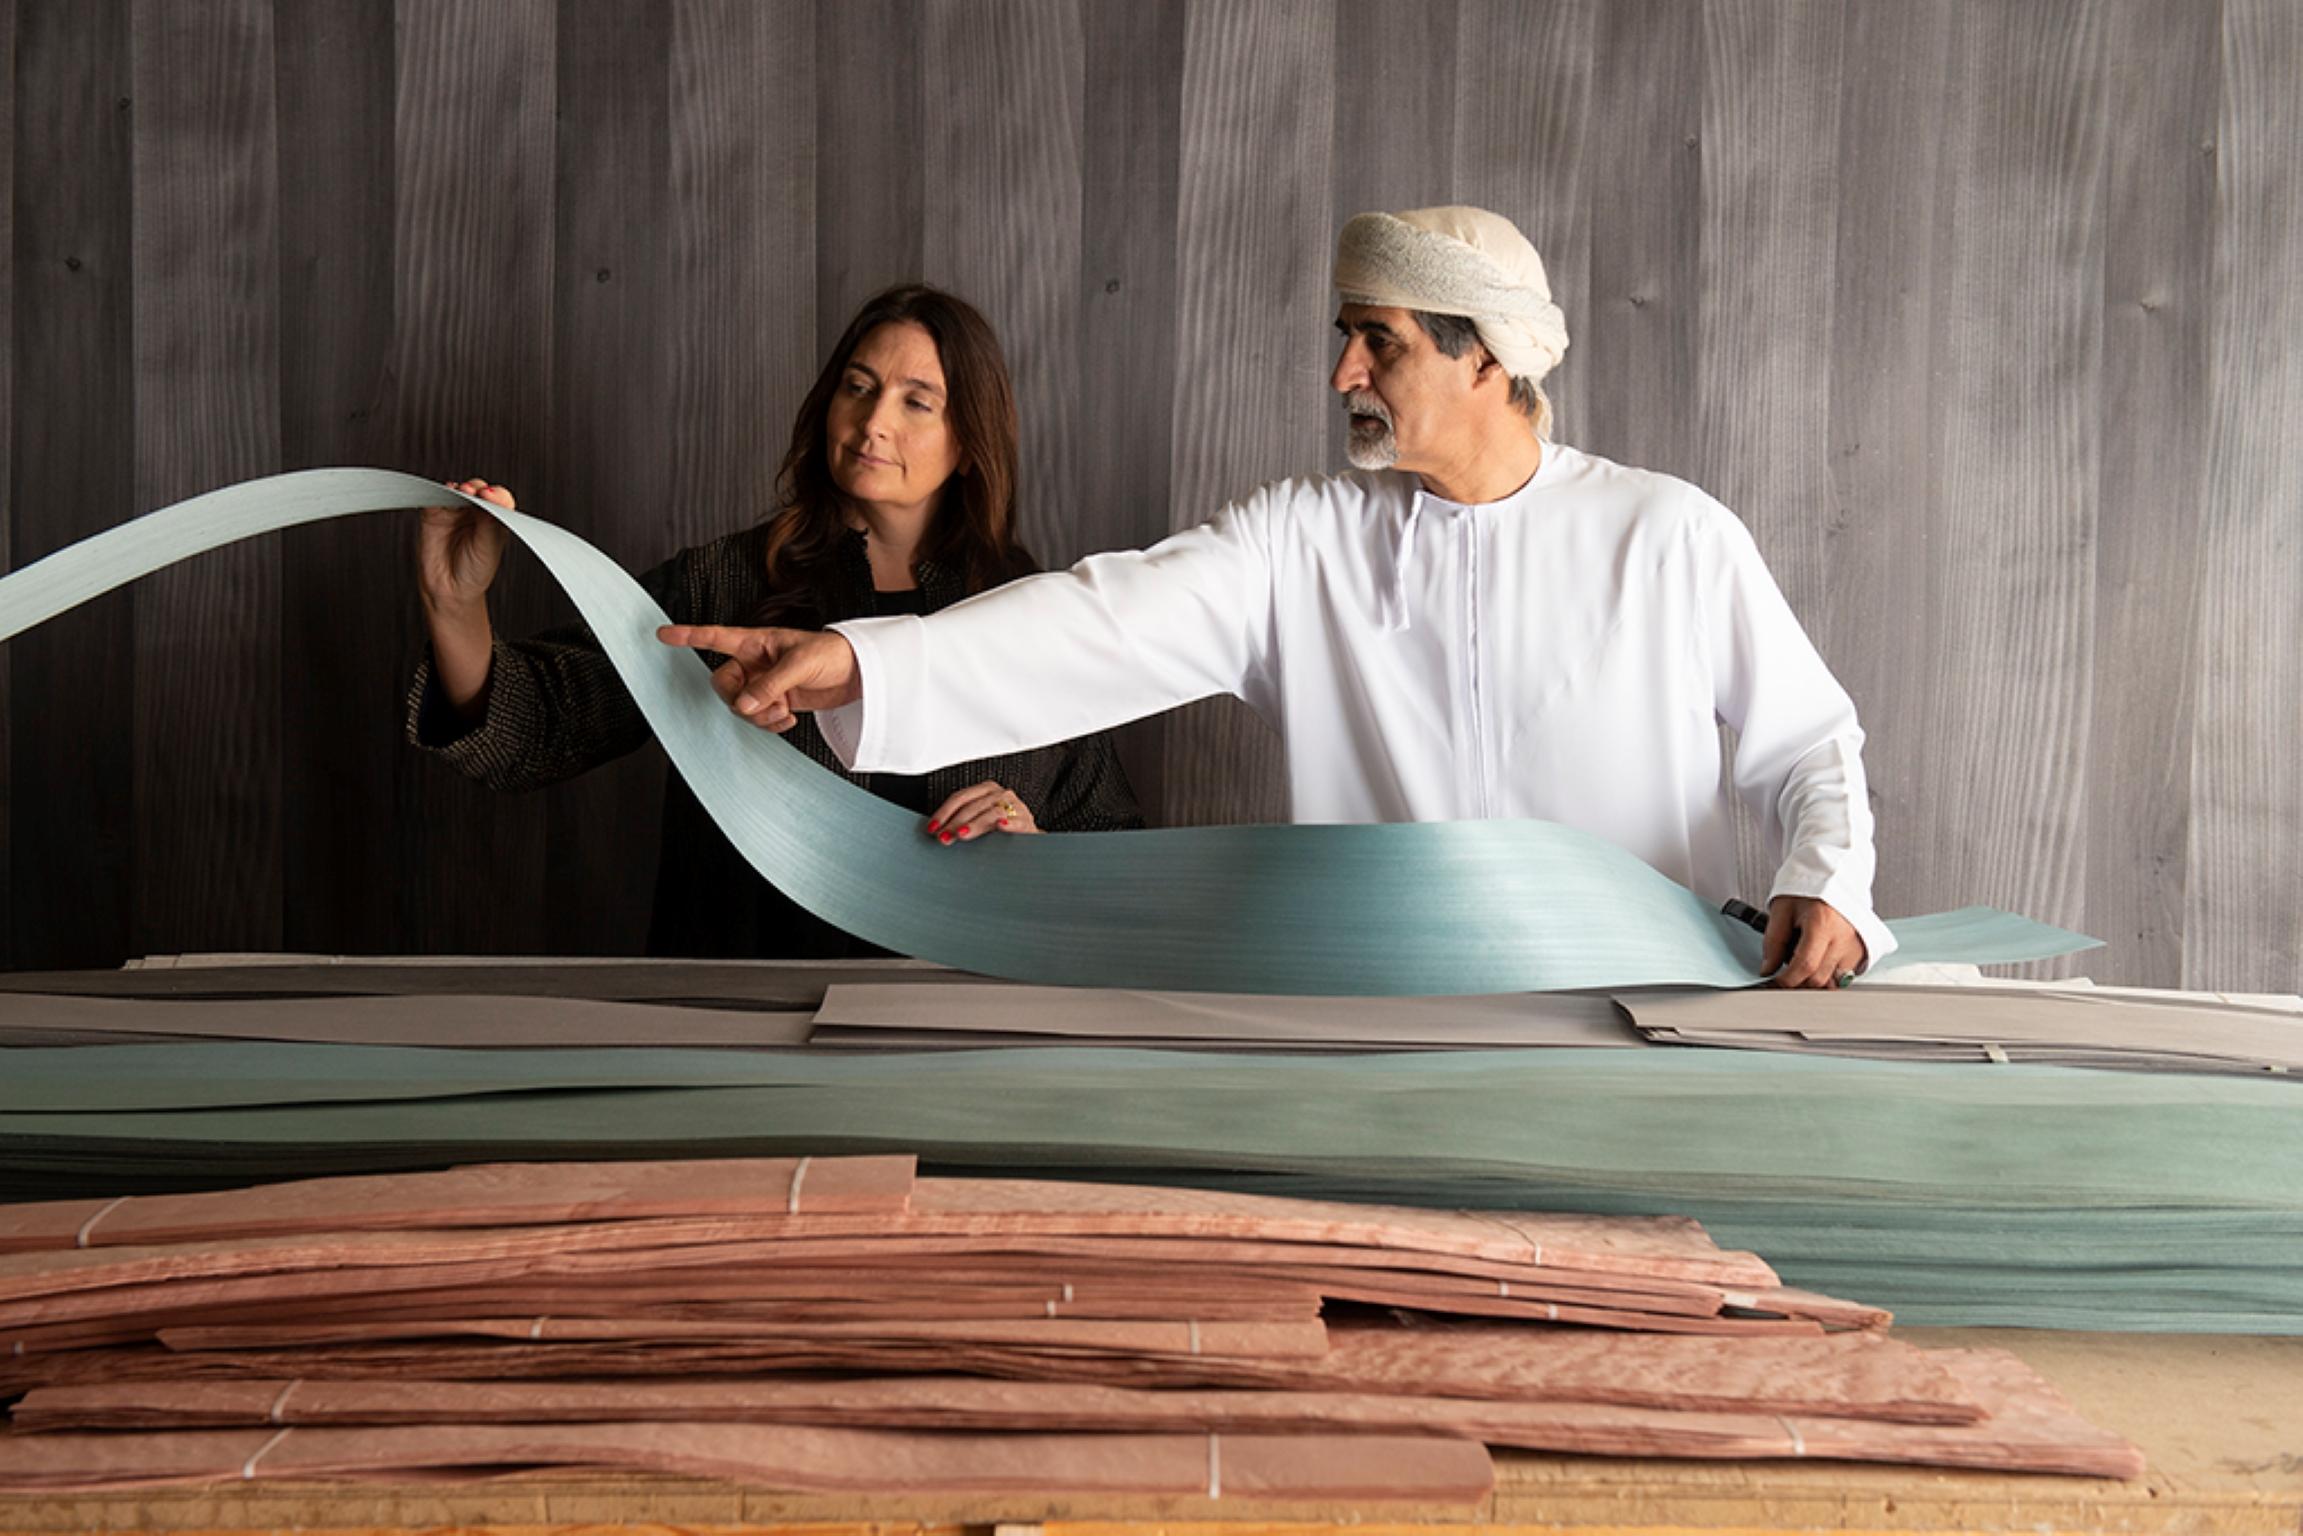
M 857 771 L 1232 693 L 1280 730 L 1299 822 L 1566 822 L 1711 900 L 1736 894 L 1725 721 L 1783 850 L 1764 967 L 1831 986 L 1893 949 L 1854 705 L 1734 514 L 1548 440 L 1566 327 L 1527 239 L 1481 210 L 1361 214 L 1336 288 L 1356 472 L 933 617 L 663 638 L 732 656 L 721 693 L 758 725 L 822 709 Z M 997 806 L 942 831 L 993 829 Z

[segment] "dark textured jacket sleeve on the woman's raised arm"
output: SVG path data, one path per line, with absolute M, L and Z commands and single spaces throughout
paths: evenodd
M 707 555 L 682 550 L 640 576 L 672 617 L 693 624 L 707 608 Z M 608 654 L 585 626 L 532 640 L 497 640 L 488 659 L 481 718 L 463 718 L 433 672 L 431 647 L 408 689 L 408 739 L 491 790 L 539 790 L 638 748 L 652 737 Z

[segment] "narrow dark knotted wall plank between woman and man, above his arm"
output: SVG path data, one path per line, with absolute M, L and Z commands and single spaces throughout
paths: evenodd
M 1168 534 L 1184 21 L 1184 0 L 1082 9 L 1080 398 L 1055 424 L 1080 442 L 1080 553 Z M 1122 728 L 1122 767 L 1154 822 L 1165 758 L 1163 718 Z

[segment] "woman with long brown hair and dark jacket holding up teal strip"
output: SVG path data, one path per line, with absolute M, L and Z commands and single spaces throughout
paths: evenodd
M 514 504 L 486 481 L 456 488 Z M 408 695 L 408 739 L 491 788 L 527 790 L 620 758 L 649 730 L 590 631 L 495 638 L 488 585 L 507 541 L 502 523 L 468 504 L 424 511 L 431 649 Z M 675 624 L 820 629 L 935 613 L 1034 569 L 1016 541 L 1016 394 L 1000 341 L 963 299 L 903 286 L 864 304 L 831 348 L 792 424 L 774 514 L 682 550 L 640 585 Z M 788 739 L 845 774 L 813 725 Z M 1142 824 L 1105 737 L 857 783 L 951 845 Z M 873 953 L 753 873 L 677 776 L 663 794 L 647 951 Z

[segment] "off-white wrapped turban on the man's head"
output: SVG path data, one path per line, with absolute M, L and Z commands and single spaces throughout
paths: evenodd
M 1345 304 L 1421 309 L 1479 325 L 1488 355 L 1531 385 L 1559 366 L 1568 322 L 1552 304 L 1543 258 L 1511 219 L 1483 207 L 1359 214 L 1336 242 Z

